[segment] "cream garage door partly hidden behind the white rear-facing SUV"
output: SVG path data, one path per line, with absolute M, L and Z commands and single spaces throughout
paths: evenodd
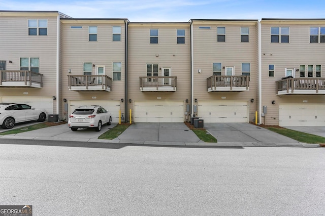
M 119 122 L 119 110 L 121 109 L 120 101 L 107 100 L 76 100 L 70 101 L 69 113 L 73 112 L 77 107 L 84 105 L 100 105 L 109 111 L 112 115 L 112 122 Z

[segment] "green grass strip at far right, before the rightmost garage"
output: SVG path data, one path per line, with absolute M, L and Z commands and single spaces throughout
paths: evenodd
M 265 127 L 270 131 L 281 134 L 283 136 L 289 137 L 291 139 L 297 140 L 302 143 L 312 143 L 312 144 L 322 144 L 325 143 L 325 137 L 320 137 L 317 135 L 307 134 L 303 132 L 293 131 L 291 129 L 283 128 L 283 127 Z

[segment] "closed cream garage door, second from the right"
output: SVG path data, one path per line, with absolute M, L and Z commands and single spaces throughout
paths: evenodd
M 248 101 L 199 101 L 198 117 L 204 122 L 249 122 Z

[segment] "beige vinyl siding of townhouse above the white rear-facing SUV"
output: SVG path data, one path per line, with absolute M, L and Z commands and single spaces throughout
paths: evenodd
M 62 24 L 62 97 L 69 100 L 120 100 L 124 98 L 125 24 L 124 20 L 61 20 Z M 71 29 L 70 26 L 83 26 Z M 88 26 L 98 26 L 98 41 L 88 41 Z M 121 26 L 121 41 L 112 41 L 112 26 Z M 68 90 L 67 75 L 83 75 L 83 63 L 105 66 L 105 74 L 113 79 L 113 62 L 121 62 L 121 80 L 112 81 L 111 92 L 76 92 Z M 68 69 L 72 73 L 68 73 Z M 92 67 L 95 75 L 96 67 Z M 121 103 L 121 111 L 124 110 Z

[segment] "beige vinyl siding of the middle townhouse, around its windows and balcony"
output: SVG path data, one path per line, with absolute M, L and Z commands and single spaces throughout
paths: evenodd
M 158 29 L 158 44 L 150 44 L 150 29 Z M 185 29 L 185 44 L 177 44 L 177 29 Z M 141 92 L 139 77 L 147 76 L 147 64 L 158 64 L 158 68 L 171 67 L 171 76 L 177 76 L 176 92 Z M 162 70 L 158 69 L 158 76 L 161 76 L 161 73 Z M 188 104 L 190 104 L 190 77 L 189 23 L 129 24 L 128 98 L 131 98 L 133 102 L 185 101 L 188 99 Z M 130 109 L 133 109 L 133 102 L 128 103 Z

